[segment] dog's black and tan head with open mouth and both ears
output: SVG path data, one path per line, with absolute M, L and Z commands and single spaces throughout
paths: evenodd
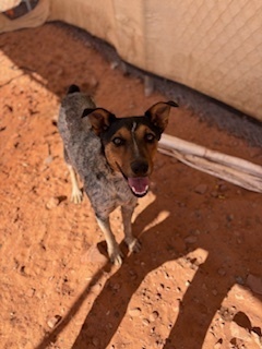
M 100 137 L 106 159 L 116 172 L 120 172 L 135 196 L 144 196 L 148 190 L 148 177 L 157 142 L 167 127 L 174 101 L 157 103 L 142 117 L 116 118 L 103 108 L 85 109 L 94 132 Z

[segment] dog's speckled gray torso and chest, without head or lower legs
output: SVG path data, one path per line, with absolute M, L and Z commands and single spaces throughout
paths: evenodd
M 95 108 L 93 100 L 82 93 L 67 95 L 62 100 L 58 129 L 63 140 L 64 157 L 84 182 L 84 190 L 96 216 L 105 219 L 117 207 L 134 206 L 131 193 L 120 173 L 114 173 L 104 156 L 99 136 L 82 118 L 85 108 Z

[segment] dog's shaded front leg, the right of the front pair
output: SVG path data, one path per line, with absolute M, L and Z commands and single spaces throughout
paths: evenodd
M 133 215 L 134 206 L 121 206 L 122 221 L 124 231 L 124 242 L 127 243 L 130 252 L 139 252 L 141 244 L 136 238 L 132 234 L 131 218 Z

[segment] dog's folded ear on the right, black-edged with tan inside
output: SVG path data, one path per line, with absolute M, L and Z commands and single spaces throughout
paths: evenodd
M 172 100 L 159 101 L 146 110 L 145 116 L 150 118 L 151 122 L 157 127 L 160 132 L 164 132 L 168 123 L 168 117 L 171 107 L 177 108 L 178 105 Z

